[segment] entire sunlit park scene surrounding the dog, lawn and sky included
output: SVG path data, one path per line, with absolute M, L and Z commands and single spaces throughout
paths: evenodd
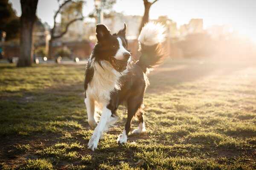
M 0 170 L 256 170 L 255 9 L 256 0 L 0 0 Z M 83 85 L 96 24 L 115 33 L 125 22 L 138 59 L 148 21 L 166 27 L 169 54 L 148 76 L 148 133 L 117 144 L 120 106 L 90 152 Z

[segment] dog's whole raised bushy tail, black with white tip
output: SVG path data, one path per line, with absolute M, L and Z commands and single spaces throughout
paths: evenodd
M 165 28 L 160 23 L 149 22 L 145 24 L 139 35 L 141 56 L 137 65 L 143 72 L 147 68 L 155 68 L 163 62 L 166 54 L 163 52 L 162 42 L 165 41 Z

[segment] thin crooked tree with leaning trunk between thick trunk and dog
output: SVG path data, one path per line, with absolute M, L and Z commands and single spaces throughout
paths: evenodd
M 58 2 L 60 2 L 60 0 L 58 0 Z M 61 38 L 64 36 L 64 34 L 67 33 L 69 26 L 78 21 L 78 20 L 83 20 L 84 17 L 82 16 L 81 12 L 82 11 L 82 6 L 83 6 L 84 1 L 82 0 L 78 0 L 78 1 L 74 1 L 74 0 L 65 0 L 63 1 L 60 5 L 58 10 L 55 12 L 53 20 L 54 20 L 54 24 L 53 27 L 50 31 L 51 34 L 51 39 L 49 40 L 49 48 L 48 48 L 48 58 L 52 58 L 53 54 L 52 54 L 52 43 L 55 39 Z M 65 8 L 65 6 L 68 6 L 68 8 Z M 56 34 L 56 18 L 58 16 L 58 14 L 68 14 L 67 16 L 70 16 L 67 18 L 67 20 L 65 21 L 61 21 L 61 32 Z M 69 15 L 70 14 L 70 15 Z M 75 16 L 73 14 L 76 14 Z M 72 15 L 72 16 L 71 16 Z

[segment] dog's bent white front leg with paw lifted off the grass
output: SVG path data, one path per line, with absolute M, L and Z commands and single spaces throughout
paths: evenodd
M 94 118 L 95 102 L 93 99 L 90 99 L 87 96 L 87 98 L 84 99 L 84 103 L 86 105 L 88 123 L 90 127 L 95 128 L 97 126 L 97 122 L 95 121 L 95 118 Z

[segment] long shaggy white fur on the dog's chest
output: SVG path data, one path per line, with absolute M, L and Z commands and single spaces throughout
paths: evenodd
M 118 80 L 121 77 L 121 74 L 109 62 L 101 61 L 101 64 L 102 67 L 98 62 L 93 62 L 91 65 L 94 73 L 86 90 L 86 95 L 94 99 L 99 106 L 108 105 L 110 93 L 115 88 L 119 89 Z

